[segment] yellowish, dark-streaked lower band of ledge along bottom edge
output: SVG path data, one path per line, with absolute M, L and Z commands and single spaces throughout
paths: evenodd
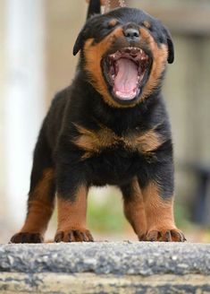
M 210 293 L 209 277 L 200 275 L 118 276 L 94 273 L 3 273 L 1 293 L 59 293 L 59 294 L 171 294 Z

